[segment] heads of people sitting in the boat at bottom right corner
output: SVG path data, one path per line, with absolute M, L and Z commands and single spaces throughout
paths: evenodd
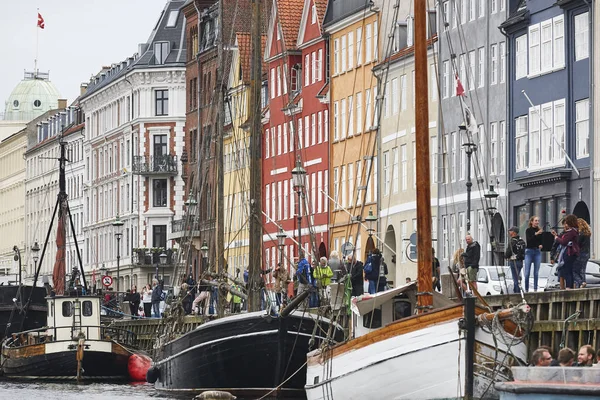
M 600 350 L 595 351 L 589 344 L 579 348 L 579 352 L 565 347 L 552 357 L 549 346 L 540 346 L 531 355 L 532 367 L 600 367 Z

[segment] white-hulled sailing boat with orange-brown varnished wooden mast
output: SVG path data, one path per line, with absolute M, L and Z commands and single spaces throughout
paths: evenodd
M 416 149 L 430 154 L 426 2 L 414 10 Z M 418 281 L 352 299 L 355 337 L 307 356 L 309 400 L 494 398 L 526 359 L 526 304 L 492 313 L 433 291 L 429 171 L 417 157 Z

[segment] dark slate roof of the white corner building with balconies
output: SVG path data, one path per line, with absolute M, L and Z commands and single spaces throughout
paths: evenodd
M 81 96 L 81 99 L 124 77 L 134 69 L 162 68 L 164 66 L 184 67 L 187 60 L 185 16 L 180 12 L 184 3 L 185 0 L 169 0 L 160 14 L 154 29 L 150 33 L 150 37 L 146 43 L 140 44 L 139 53 L 120 63 L 113 64 L 111 67 L 103 67 L 92 78 L 87 91 Z M 164 62 L 160 64 L 157 64 L 155 55 L 155 44 L 158 43 L 168 43 L 168 55 L 164 59 Z

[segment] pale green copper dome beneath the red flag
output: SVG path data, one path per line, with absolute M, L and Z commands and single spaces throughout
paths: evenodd
M 25 78 L 14 88 L 4 109 L 6 121 L 31 121 L 46 111 L 58 108 L 60 94 L 49 80 L 49 74 L 25 72 Z

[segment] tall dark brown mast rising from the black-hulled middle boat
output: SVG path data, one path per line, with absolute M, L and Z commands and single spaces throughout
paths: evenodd
M 248 311 L 260 310 L 260 272 L 262 270 L 262 122 L 261 122 L 261 1 L 252 1 L 252 39 L 250 71 L 250 255 L 248 265 Z

